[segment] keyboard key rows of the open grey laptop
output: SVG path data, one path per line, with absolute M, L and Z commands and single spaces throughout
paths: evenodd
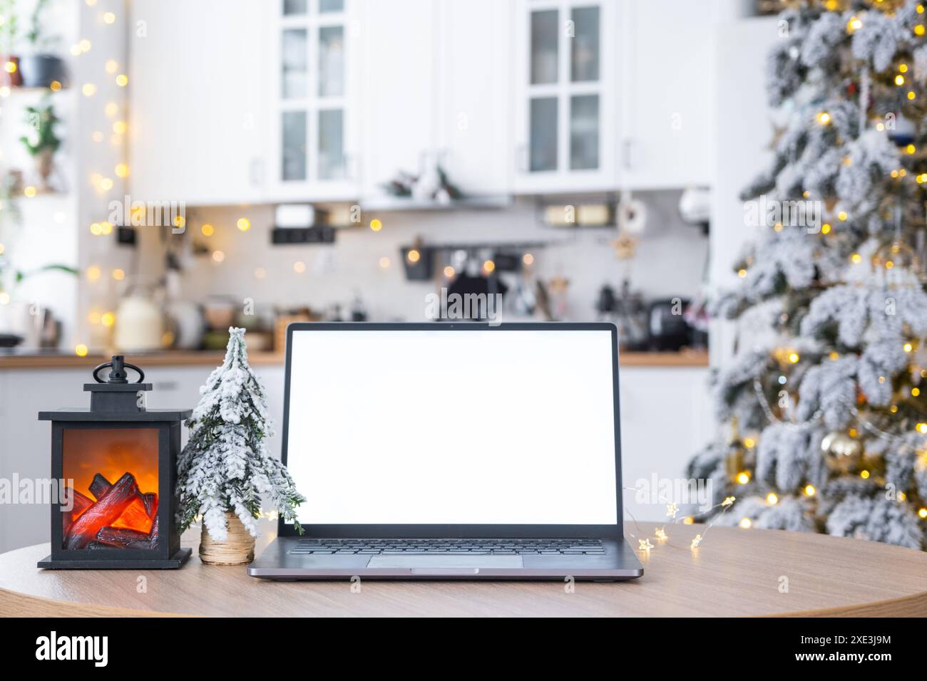
M 603 556 L 601 539 L 300 539 L 291 554 L 402 553 Z

